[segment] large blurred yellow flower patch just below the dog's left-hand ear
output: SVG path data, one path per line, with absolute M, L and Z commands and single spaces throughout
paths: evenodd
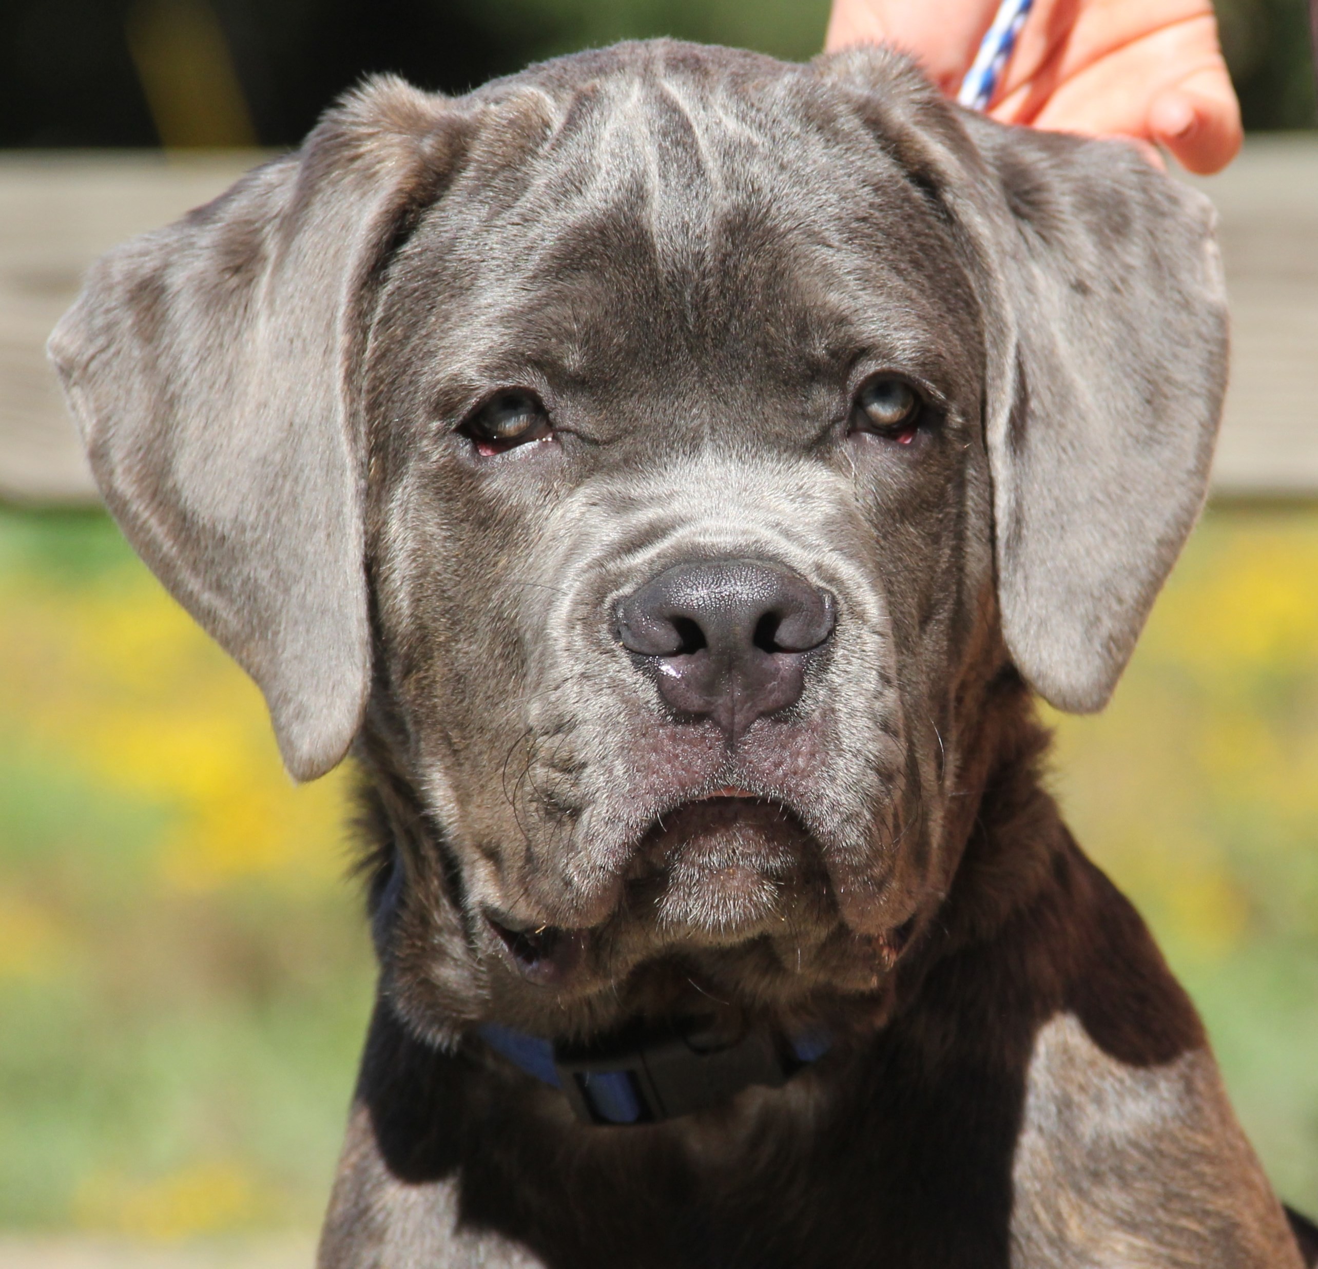
M 0 722 L 51 760 L 169 809 L 162 880 L 304 887 L 341 875 L 351 777 L 293 784 L 254 685 L 145 569 L 76 592 L 22 580 L 0 593 L 0 658 L 16 688 Z

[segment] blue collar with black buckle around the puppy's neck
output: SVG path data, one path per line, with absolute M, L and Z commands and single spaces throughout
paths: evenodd
M 729 1100 L 750 1085 L 778 1088 L 817 1062 L 832 1037 L 791 1040 L 750 1030 L 730 1044 L 699 1027 L 630 1028 L 588 1048 L 486 1023 L 480 1037 L 498 1054 L 568 1099 L 588 1124 L 647 1124 Z

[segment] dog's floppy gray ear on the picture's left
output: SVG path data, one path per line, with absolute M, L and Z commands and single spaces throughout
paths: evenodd
M 128 540 L 265 693 L 302 780 L 365 708 L 365 426 L 382 266 L 453 170 L 465 117 L 397 79 L 303 148 L 105 256 L 49 352 Z

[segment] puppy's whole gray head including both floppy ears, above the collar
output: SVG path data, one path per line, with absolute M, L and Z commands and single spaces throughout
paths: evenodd
M 879 987 L 986 684 L 1110 693 L 1222 341 L 1203 206 L 1123 148 L 658 43 L 362 90 L 53 353 L 290 768 L 360 734 L 391 791 L 405 1012 L 554 1032 Z

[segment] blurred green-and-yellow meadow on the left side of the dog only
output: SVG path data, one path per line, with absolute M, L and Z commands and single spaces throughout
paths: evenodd
M 372 986 L 344 779 L 291 785 L 104 517 L 0 513 L 0 1226 L 312 1226 Z

